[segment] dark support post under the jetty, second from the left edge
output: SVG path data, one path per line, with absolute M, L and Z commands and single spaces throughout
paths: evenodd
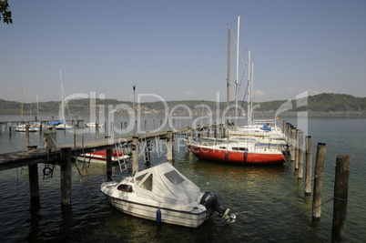
M 61 147 L 61 205 L 71 206 L 71 147 Z

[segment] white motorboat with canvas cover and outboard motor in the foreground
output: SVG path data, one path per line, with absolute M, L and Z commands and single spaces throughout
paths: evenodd
M 197 228 L 213 212 L 227 222 L 234 222 L 236 218 L 229 208 L 219 205 L 214 193 L 203 194 L 168 162 L 139 171 L 120 182 L 104 182 L 100 189 L 119 211 L 156 220 L 158 224 Z

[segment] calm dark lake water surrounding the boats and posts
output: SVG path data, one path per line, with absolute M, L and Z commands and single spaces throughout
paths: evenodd
M 289 121 L 298 127 L 295 119 Z M 3 128 L 0 153 L 24 150 L 25 135 L 13 132 L 10 136 Z M 364 242 L 366 119 L 310 118 L 308 133 L 313 138 L 313 160 L 317 143 L 327 144 L 323 202 L 333 195 L 336 157 L 351 156 L 346 241 Z M 31 134 L 33 144 L 41 145 L 42 139 L 43 135 Z M 95 135 L 86 135 L 84 139 L 95 139 Z M 73 143 L 73 137 L 57 132 L 57 141 Z M 223 165 L 199 161 L 187 148 L 176 148 L 173 165 L 203 191 L 217 193 L 221 204 L 237 215 L 234 224 L 212 218 L 199 228 L 157 227 L 153 221 L 122 214 L 109 206 L 100 192 L 106 167 L 94 165 L 84 169 L 82 164 L 73 166 L 72 207 L 62 209 L 60 168 L 55 167 L 53 177 L 44 179 L 44 166 L 39 165 L 39 207 L 30 205 L 27 167 L 0 172 L 2 242 L 330 242 L 333 202 L 324 204 L 320 221 L 312 223 L 312 197 L 304 197 L 304 182 L 294 176 L 293 163 L 280 167 Z M 166 161 L 164 151 L 151 156 L 150 166 Z M 143 159 L 139 167 L 147 167 Z M 123 177 L 130 171 L 121 173 L 114 167 L 113 173 Z

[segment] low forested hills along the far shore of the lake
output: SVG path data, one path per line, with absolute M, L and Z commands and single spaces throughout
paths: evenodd
M 105 110 L 116 108 L 115 112 L 127 113 L 126 107 L 133 107 L 131 102 L 118 101 L 117 99 L 96 100 L 97 107 L 99 105 L 105 106 Z M 38 104 L 39 115 L 55 115 L 58 114 L 60 101 L 40 102 Z M 297 111 L 308 111 L 309 114 L 321 115 L 366 115 L 366 97 L 356 97 L 343 94 L 323 93 L 316 96 L 308 96 L 303 100 L 275 100 L 269 102 L 255 103 L 259 104 L 260 108 L 256 110 L 275 113 L 279 107 L 285 108 L 287 113 L 294 113 Z M 300 104 L 300 105 L 299 105 Z M 198 100 L 182 100 L 182 101 L 167 101 L 168 111 L 175 114 L 187 113 L 188 108 L 193 115 L 201 114 L 205 107 L 209 106 L 213 113 L 218 108 L 222 110 L 226 107 L 226 102 L 218 104 L 215 101 L 198 101 Z M 246 109 L 247 104 L 239 102 Z M 290 105 L 290 106 L 289 106 Z M 70 115 L 86 115 L 89 114 L 90 102 L 88 99 L 76 99 L 67 102 L 68 111 Z M 125 108 L 124 108 L 125 107 Z M 202 108 L 203 107 L 203 108 Z M 23 104 L 24 115 L 36 115 L 36 103 Z M 143 114 L 164 114 L 166 106 L 163 102 L 147 102 L 140 104 L 140 112 Z M 131 108 L 129 109 L 131 112 Z M 0 99 L 0 115 L 20 115 L 21 103 L 15 101 L 5 101 Z M 283 113 L 282 113 L 283 114 Z

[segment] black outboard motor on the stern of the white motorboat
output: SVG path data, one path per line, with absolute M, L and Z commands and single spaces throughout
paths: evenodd
M 219 197 L 213 192 L 206 192 L 199 201 L 200 204 L 208 209 L 209 213 L 215 211 L 219 214 L 219 217 L 224 219 L 226 222 L 233 223 L 235 222 L 235 214 L 230 212 L 229 208 L 222 208 L 219 203 Z

